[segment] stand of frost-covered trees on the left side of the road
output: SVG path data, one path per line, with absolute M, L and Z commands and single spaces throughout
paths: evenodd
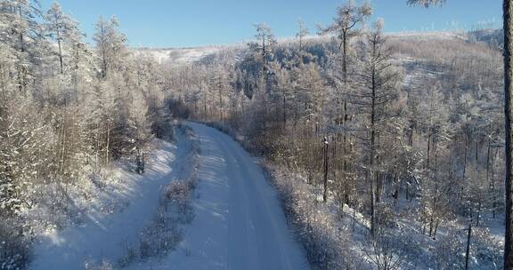
M 65 226 L 113 160 L 142 173 L 153 134 L 172 136 L 162 67 L 97 26 L 94 51 L 58 4 L 0 1 L 0 268 L 26 267 L 33 226 Z

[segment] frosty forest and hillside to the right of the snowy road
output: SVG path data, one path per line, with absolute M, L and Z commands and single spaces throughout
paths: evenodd
M 256 25 L 247 48 L 170 68 L 172 96 L 269 161 L 314 267 L 501 267 L 500 43 L 387 35 L 369 12 L 280 42 Z

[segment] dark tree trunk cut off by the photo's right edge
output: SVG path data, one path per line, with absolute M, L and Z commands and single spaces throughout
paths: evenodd
M 513 269 L 513 153 L 511 152 L 511 135 L 513 134 L 513 124 L 511 123 L 511 99 L 513 94 L 513 60 L 511 52 L 513 51 L 513 3 L 511 0 L 504 0 L 502 4 L 504 12 L 504 114 L 505 114 L 505 131 L 506 131 L 506 178 L 505 178 L 505 194 L 506 194 L 506 230 L 504 239 L 504 269 Z

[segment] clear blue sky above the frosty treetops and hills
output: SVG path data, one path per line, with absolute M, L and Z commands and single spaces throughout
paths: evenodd
M 46 9 L 53 0 L 40 0 Z M 131 46 L 186 47 L 248 41 L 253 25 L 265 22 L 275 36 L 294 36 L 302 19 L 315 33 L 327 25 L 343 0 L 61 0 L 91 42 L 100 15 L 116 15 Z M 406 0 L 371 0 L 373 20 L 387 32 L 501 27 L 501 0 L 447 0 L 444 7 L 407 6 Z

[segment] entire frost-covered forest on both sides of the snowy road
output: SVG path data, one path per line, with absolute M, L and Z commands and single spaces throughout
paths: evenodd
M 86 44 L 59 4 L 0 1 L 0 269 L 80 225 L 115 164 L 144 173 L 184 119 L 262 157 L 313 269 L 501 269 L 500 35 L 333 13 L 295 38 L 262 23 L 247 45 L 157 50 L 115 17 Z

